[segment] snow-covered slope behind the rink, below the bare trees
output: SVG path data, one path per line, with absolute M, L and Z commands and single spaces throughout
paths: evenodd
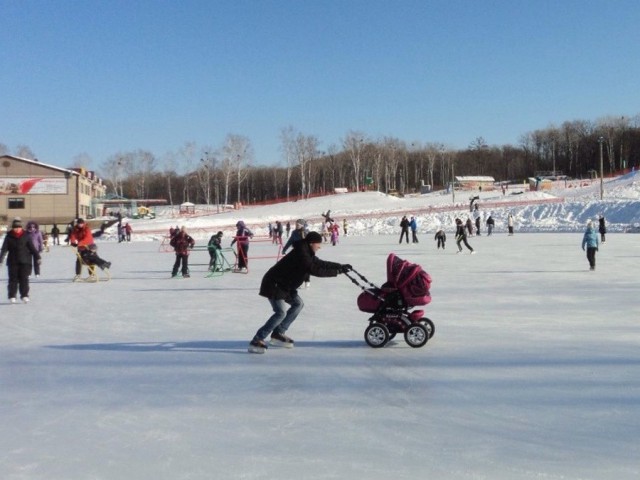
M 491 214 L 496 231 L 506 231 L 509 213 L 514 215 L 516 230 L 526 232 L 578 232 L 588 220 L 604 215 L 610 232 L 626 232 L 640 225 L 640 176 L 638 172 L 607 180 L 604 200 L 600 200 L 600 182 L 556 182 L 545 192 L 531 192 L 528 187 L 511 186 L 502 194 L 489 192 L 456 191 L 455 203 L 450 193 L 433 192 L 398 198 L 380 192 L 361 192 L 329 195 L 326 197 L 286 202 L 275 205 L 250 206 L 224 213 L 215 212 L 215 206 L 198 206 L 196 215 L 178 214 L 178 208 L 157 209 L 154 220 L 130 220 L 137 240 L 160 240 L 169 228 L 185 225 L 197 240 L 212 232 L 223 230 L 234 233 L 236 221 L 243 220 L 257 235 L 265 235 L 269 222 L 294 222 L 297 218 L 308 221 L 313 230 L 320 230 L 322 213 L 331 211 L 338 222 L 346 219 L 351 235 L 399 233 L 402 215 L 416 216 L 422 234 L 434 233 L 438 228 L 454 230 L 456 217 L 466 220 L 472 216 L 470 198 L 479 196 L 481 223 Z M 207 211 L 212 213 L 208 214 Z M 112 227 L 104 239 L 115 239 Z

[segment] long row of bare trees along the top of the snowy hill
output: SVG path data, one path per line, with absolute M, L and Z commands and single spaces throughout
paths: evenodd
M 402 194 L 424 184 L 446 187 L 454 172 L 517 182 L 539 171 L 581 178 L 599 172 L 601 151 L 605 174 L 640 165 L 640 115 L 549 126 L 524 134 L 517 146 L 490 146 L 478 137 L 462 150 L 395 137 L 374 140 L 350 131 L 341 145 L 322 151 L 316 136 L 293 127 L 282 129 L 280 141 L 283 164 L 278 166 L 255 165 L 250 140 L 229 134 L 217 148 L 187 142 L 162 158 L 147 150 L 117 153 L 99 174 L 112 195 L 210 205 L 307 198 L 337 187 Z M 0 143 L 3 153 L 9 151 Z M 27 146 L 16 155 L 35 158 Z M 74 159 L 86 160 L 86 155 Z

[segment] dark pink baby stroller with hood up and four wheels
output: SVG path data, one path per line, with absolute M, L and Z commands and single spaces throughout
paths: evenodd
M 358 308 L 373 313 L 364 331 L 364 339 L 370 347 L 384 347 L 398 333 L 404 334 L 405 341 L 413 348 L 427 343 L 435 333 L 433 322 L 423 316 L 424 310 L 410 311 L 412 307 L 431 302 L 431 276 L 420 265 L 390 253 L 387 257 L 387 281 L 381 287 L 355 270 L 352 272 L 370 287 L 346 274 L 363 290 L 358 296 Z

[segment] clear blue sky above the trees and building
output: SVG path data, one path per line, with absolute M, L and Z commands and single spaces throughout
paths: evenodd
M 0 0 L 0 143 L 97 168 L 280 132 L 465 148 L 640 113 L 637 1 Z

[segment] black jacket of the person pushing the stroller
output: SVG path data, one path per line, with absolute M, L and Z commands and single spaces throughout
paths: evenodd
M 307 242 L 300 242 L 262 277 L 260 295 L 276 300 L 288 300 L 307 274 L 315 277 L 335 277 L 340 273 L 339 263 L 320 260 Z

